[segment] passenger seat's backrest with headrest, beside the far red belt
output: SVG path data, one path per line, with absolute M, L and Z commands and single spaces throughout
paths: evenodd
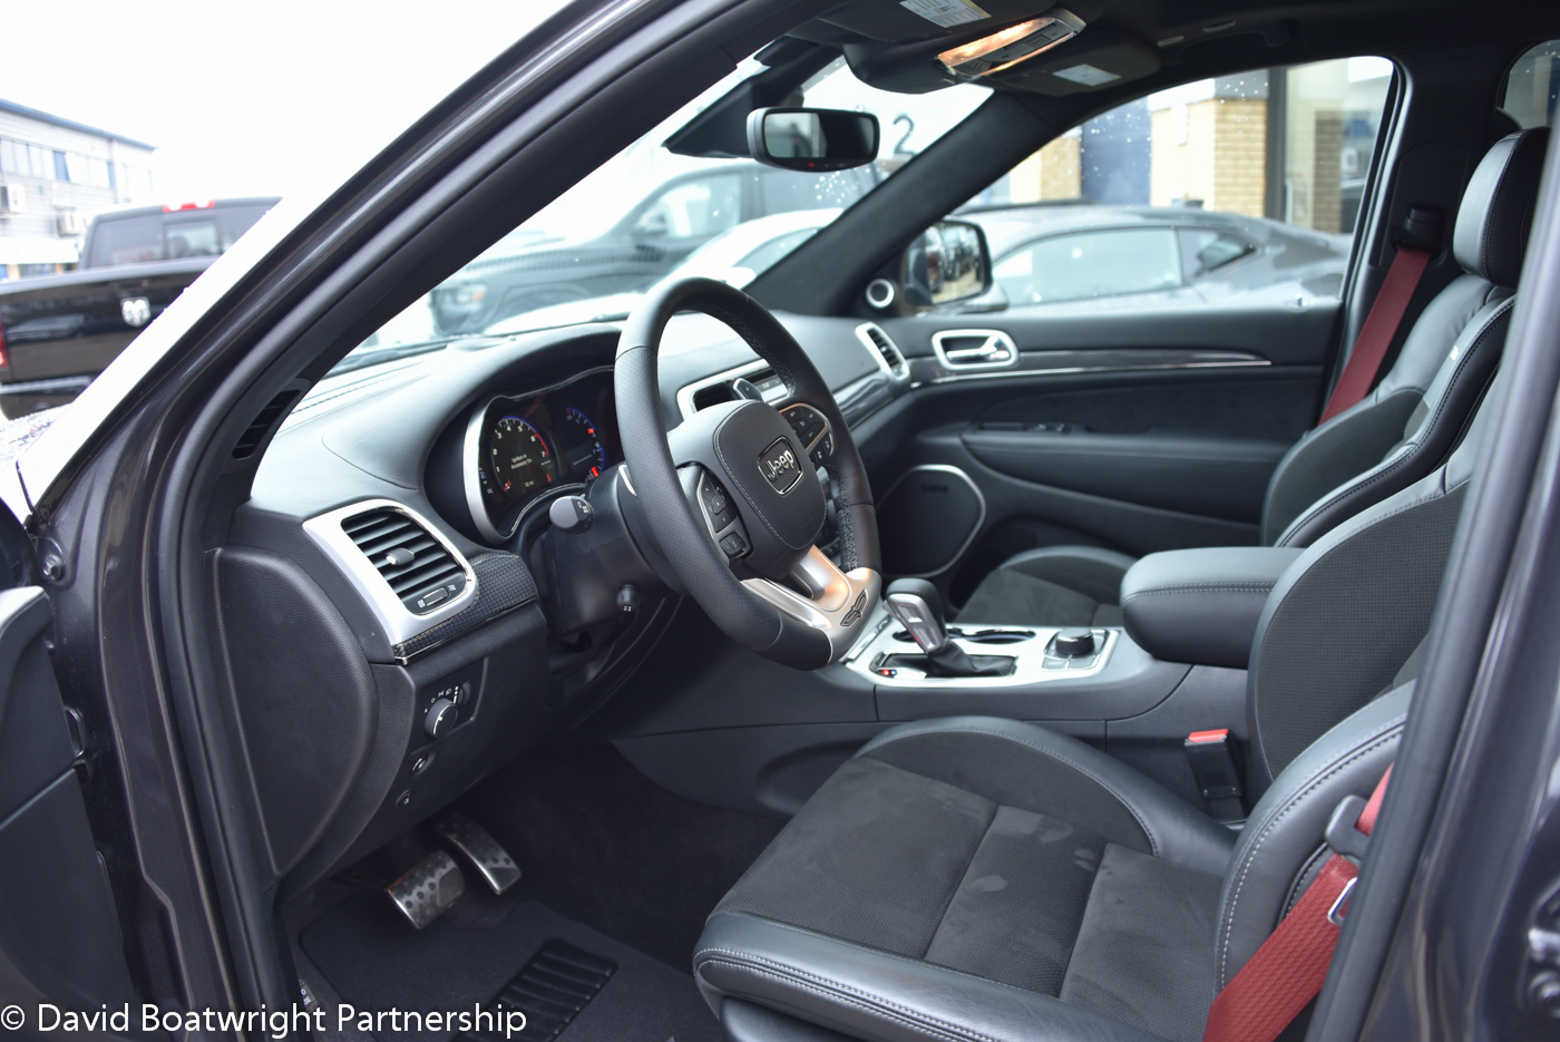
M 1426 306 L 1376 388 L 1279 462 L 1265 544 L 1310 546 L 1446 459 L 1505 348 L 1548 140 L 1544 126 L 1507 134 L 1479 162 L 1452 231 L 1463 275 Z

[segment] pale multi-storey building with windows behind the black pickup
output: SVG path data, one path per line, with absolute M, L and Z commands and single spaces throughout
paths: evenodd
M 0 100 L 0 279 L 69 268 L 92 217 L 153 201 L 153 150 Z

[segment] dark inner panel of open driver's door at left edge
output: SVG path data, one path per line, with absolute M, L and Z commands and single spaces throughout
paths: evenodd
M 0 1003 L 97 1011 L 134 991 L 44 646 L 50 621 L 42 590 L 0 590 Z

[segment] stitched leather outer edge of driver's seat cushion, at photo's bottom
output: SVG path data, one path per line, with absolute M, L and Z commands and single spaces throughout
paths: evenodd
M 693 966 L 716 1012 L 730 995 L 866 1042 L 1154 1037 L 1048 995 L 757 916 L 711 916 Z

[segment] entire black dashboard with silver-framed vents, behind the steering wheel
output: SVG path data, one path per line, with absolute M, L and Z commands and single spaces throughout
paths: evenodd
M 860 321 L 786 324 L 852 427 L 908 390 L 903 359 L 886 360 Z M 680 315 L 668 334 L 672 424 L 739 393 L 786 404 L 729 328 Z M 677 596 L 626 527 L 636 494 L 616 423 L 618 337 L 607 324 L 537 331 L 348 371 L 264 446 L 217 587 L 225 657 L 240 663 L 225 675 L 287 892 L 593 711 L 674 626 Z M 808 410 L 792 413 L 807 427 Z M 548 505 L 571 491 L 594 512 L 563 538 Z M 289 700 L 300 691 L 329 697 Z

